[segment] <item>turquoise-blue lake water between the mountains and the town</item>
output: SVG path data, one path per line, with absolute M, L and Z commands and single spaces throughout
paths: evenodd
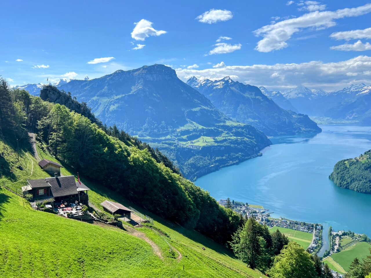
M 203 176 L 196 185 L 219 199 L 248 202 L 280 216 L 371 237 L 371 194 L 338 188 L 328 176 L 341 159 L 371 149 L 371 127 L 321 125 L 316 135 L 271 139 L 263 156 Z

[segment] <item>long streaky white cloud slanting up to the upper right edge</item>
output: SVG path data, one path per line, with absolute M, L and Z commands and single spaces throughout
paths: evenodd
M 288 47 L 289 40 L 293 34 L 300 32 L 303 28 L 312 27 L 316 30 L 329 28 L 336 25 L 335 19 L 344 17 L 361 16 L 370 13 L 371 4 L 365 4 L 356 8 L 346 8 L 336 11 L 313 11 L 300 17 L 283 20 L 274 24 L 263 26 L 253 33 L 262 36 L 263 39 L 257 43 L 255 49 L 259 52 L 271 52 L 273 50 Z

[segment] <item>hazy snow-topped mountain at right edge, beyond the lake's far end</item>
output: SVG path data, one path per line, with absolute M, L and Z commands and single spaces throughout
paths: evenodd
M 332 119 L 357 120 L 364 124 L 371 124 L 371 86 L 360 87 L 361 85 L 352 85 L 352 90 L 344 90 L 349 87 L 344 88 L 342 93 L 348 94 L 348 98 L 328 109 L 325 116 Z M 339 92 L 336 93 L 340 94 Z

